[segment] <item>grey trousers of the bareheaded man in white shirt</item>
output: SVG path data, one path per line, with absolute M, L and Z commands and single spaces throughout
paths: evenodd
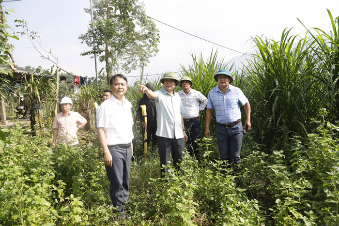
M 132 148 L 117 148 L 115 145 L 108 146 L 112 155 L 112 166 L 105 166 L 110 182 L 109 194 L 114 207 L 118 212 L 123 212 L 125 201 L 128 200 L 129 173 L 131 171 Z

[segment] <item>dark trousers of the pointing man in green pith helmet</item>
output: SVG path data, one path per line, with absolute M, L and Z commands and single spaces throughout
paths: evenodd
M 170 153 L 172 152 L 172 158 L 174 166 L 177 170 L 180 170 L 178 163 L 182 160 L 185 150 L 184 138 L 167 138 L 158 136 L 158 147 L 160 156 L 160 176 L 164 177 L 165 169 L 162 165 L 167 166 L 170 161 Z M 166 167 L 166 173 L 168 173 L 169 167 Z

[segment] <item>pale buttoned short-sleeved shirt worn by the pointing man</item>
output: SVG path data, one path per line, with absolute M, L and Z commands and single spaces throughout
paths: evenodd
M 156 107 L 157 130 L 155 135 L 166 138 L 183 138 L 181 114 L 184 107 L 180 96 L 173 90 L 173 95 L 163 88 L 156 90 L 157 97 L 154 100 Z

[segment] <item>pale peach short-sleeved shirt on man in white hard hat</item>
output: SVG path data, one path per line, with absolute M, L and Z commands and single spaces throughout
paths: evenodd
M 77 125 L 86 121 L 79 113 L 70 111 L 68 116 L 63 116 L 62 112 L 54 118 L 53 128 L 58 129 L 58 143 L 66 145 L 76 145 Z

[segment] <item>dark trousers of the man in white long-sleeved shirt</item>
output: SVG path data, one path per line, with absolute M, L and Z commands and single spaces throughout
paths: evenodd
M 199 150 L 198 144 L 195 142 L 197 139 L 200 138 L 200 121 L 199 119 L 195 119 L 192 121 L 185 121 L 184 125 L 186 131 L 187 139 L 187 151 L 191 156 L 195 156 L 198 158 Z

